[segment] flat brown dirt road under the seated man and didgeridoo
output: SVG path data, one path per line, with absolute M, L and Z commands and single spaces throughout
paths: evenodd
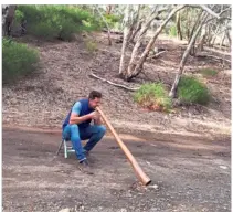
M 152 180 L 142 187 L 113 137 L 92 152 L 94 176 L 82 173 L 74 156 L 55 156 L 57 134 L 3 128 L 2 137 L 6 212 L 231 211 L 230 138 L 123 136 Z

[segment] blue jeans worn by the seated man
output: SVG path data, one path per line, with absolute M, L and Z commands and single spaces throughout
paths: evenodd
M 103 125 L 89 125 L 86 128 L 80 128 L 76 124 L 65 126 L 63 138 L 72 141 L 73 149 L 80 161 L 86 159 L 85 152 L 91 151 L 95 145 L 104 137 L 106 127 Z M 82 140 L 88 139 L 85 147 L 82 146 Z

